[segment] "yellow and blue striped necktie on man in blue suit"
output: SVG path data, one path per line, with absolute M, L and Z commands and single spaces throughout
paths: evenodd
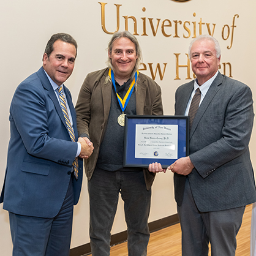
M 61 110 L 63 112 L 64 118 L 65 118 L 65 121 L 67 124 L 67 130 L 69 131 L 69 136 L 72 141 L 75 141 L 75 134 L 73 132 L 73 127 L 69 120 L 69 115 L 67 113 L 66 99 L 63 94 L 62 86 L 59 86 L 58 91 L 59 91 L 59 101 L 61 103 Z M 78 159 L 77 159 L 77 157 L 75 157 L 75 160 L 73 161 L 73 170 L 74 170 L 73 174 L 75 176 L 75 179 L 78 179 Z

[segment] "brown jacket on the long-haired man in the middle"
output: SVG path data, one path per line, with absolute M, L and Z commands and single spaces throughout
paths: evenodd
M 100 143 L 104 138 L 108 114 L 111 106 L 112 83 L 107 83 L 108 68 L 89 73 L 85 78 L 78 96 L 77 129 L 80 136 L 88 135 L 93 143 L 94 151 L 85 160 L 85 172 L 91 179 L 99 156 Z M 163 115 L 161 89 L 155 81 L 143 73 L 139 73 L 135 86 L 137 115 Z M 154 173 L 143 169 L 146 187 L 150 189 L 154 181 Z

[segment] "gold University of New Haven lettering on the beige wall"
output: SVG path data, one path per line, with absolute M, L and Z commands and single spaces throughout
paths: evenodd
M 114 17 L 114 24 L 116 21 L 116 30 L 115 31 L 108 31 L 106 22 L 109 21 L 109 19 L 106 19 L 106 10 L 105 6 L 107 3 L 105 2 L 99 2 L 101 6 L 101 26 L 102 30 L 106 34 L 114 34 L 116 31 L 119 31 L 120 28 L 120 11 L 121 11 L 121 4 L 114 4 L 115 8 L 115 14 L 111 15 L 111 17 Z M 113 10 L 112 10 L 113 11 Z M 146 12 L 146 8 L 142 8 L 143 12 Z M 192 14 L 193 17 L 197 16 L 197 13 Z M 116 17 L 116 20 L 115 20 Z M 148 18 L 148 17 L 135 17 L 134 15 L 123 15 L 124 18 L 124 28 L 126 31 L 130 31 L 130 29 L 133 29 L 133 34 L 135 36 L 154 36 L 156 37 L 157 34 L 162 34 L 164 37 L 173 37 L 173 38 L 180 38 L 183 37 L 184 39 L 189 38 L 195 38 L 201 34 L 208 34 L 210 36 L 214 36 L 216 23 L 207 23 L 203 18 L 198 18 L 197 20 L 170 20 L 168 18 Z M 231 25 L 224 24 L 221 31 L 221 37 L 223 40 L 230 40 L 230 44 L 227 46 L 227 49 L 230 50 L 233 46 L 233 39 L 234 39 L 234 31 L 236 28 L 235 21 L 236 18 L 239 18 L 238 14 L 235 14 L 233 16 L 233 21 Z M 111 22 L 113 24 L 113 22 Z M 130 27 L 129 27 L 130 25 Z M 132 28 L 133 25 L 133 28 Z M 109 25 L 108 25 L 109 26 Z M 138 33 L 140 31 L 140 34 Z M 175 55 L 175 69 L 176 69 L 176 77 L 174 80 L 181 80 L 179 78 L 179 69 L 182 67 L 186 67 L 187 69 L 187 77 L 185 79 L 192 79 L 190 76 L 190 60 L 189 55 L 187 53 L 187 64 L 180 65 L 179 64 L 179 55 L 181 53 L 173 53 Z M 151 73 L 151 77 L 153 80 L 156 79 L 157 73 L 159 73 L 160 80 L 164 79 L 165 70 L 167 67 L 167 63 L 163 63 L 164 67 L 160 66 L 160 63 L 156 64 L 156 69 L 153 70 L 153 63 L 148 63 L 149 71 Z M 232 65 L 230 62 L 223 62 L 221 66 L 219 66 L 219 69 L 222 68 L 222 73 L 226 75 L 228 73 L 228 77 L 232 77 Z M 141 68 L 138 70 L 147 70 L 147 65 L 145 63 L 141 63 Z M 195 78 L 195 74 L 192 72 L 192 77 Z

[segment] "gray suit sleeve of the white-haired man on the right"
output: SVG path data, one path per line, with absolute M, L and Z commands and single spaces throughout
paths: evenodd
M 224 122 L 220 134 L 216 132 L 217 140 L 190 155 L 190 160 L 203 178 L 248 149 L 254 120 L 252 92 L 245 85 L 236 86 L 233 91 L 228 104 L 219 106 L 223 108 Z M 209 124 L 200 125 L 205 126 L 204 134 L 201 134 L 203 140 L 204 136 L 210 136 L 207 130 Z

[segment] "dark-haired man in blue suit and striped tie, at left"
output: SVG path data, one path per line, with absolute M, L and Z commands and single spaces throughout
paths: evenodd
M 63 85 L 76 56 L 73 37 L 53 35 L 43 66 L 20 83 L 10 105 L 0 203 L 9 211 L 13 256 L 69 255 L 73 205 L 83 177 L 81 158 L 88 158 L 93 149 L 92 143 L 78 138 L 71 94 Z

